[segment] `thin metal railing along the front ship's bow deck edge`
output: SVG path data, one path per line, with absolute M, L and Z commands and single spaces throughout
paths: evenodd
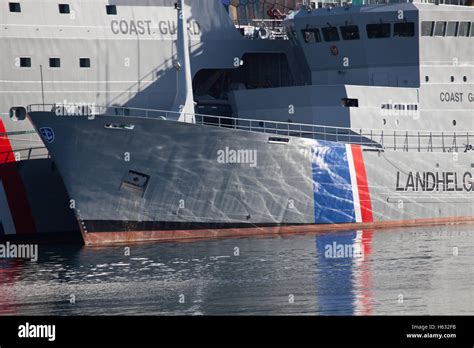
M 67 106 L 60 104 L 33 104 L 27 107 L 27 111 L 51 111 L 55 112 L 58 116 L 64 116 L 63 112 L 65 112 L 66 108 Z M 69 109 L 69 111 L 71 111 L 71 109 Z M 95 118 L 95 116 L 99 115 L 176 121 L 181 114 L 176 111 L 155 109 L 94 106 L 87 110 L 84 110 L 82 107 L 81 110 L 77 111 L 77 114 L 67 116 Z M 282 137 L 291 136 L 320 141 L 357 144 L 379 150 L 455 153 L 474 152 L 474 131 L 366 129 L 203 114 L 186 116 L 190 116 L 188 119 L 194 117 L 196 124 L 202 126 L 230 128 Z M 288 138 L 275 137 L 274 140 L 282 143 L 289 142 Z

